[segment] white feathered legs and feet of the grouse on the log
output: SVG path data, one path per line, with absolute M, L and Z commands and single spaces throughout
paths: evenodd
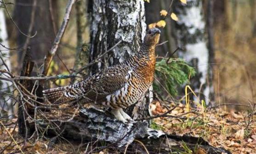
M 125 124 L 128 124 L 128 123 L 135 123 L 135 121 L 128 115 L 126 114 L 122 108 L 119 108 L 119 109 L 112 109 L 111 110 L 111 113 L 114 115 L 114 117 L 125 123 Z

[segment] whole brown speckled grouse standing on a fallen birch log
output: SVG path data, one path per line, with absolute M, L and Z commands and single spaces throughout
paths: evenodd
M 134 122 L 123 109 L 136 103 L 145 95 L 154 80 L 155 47 L 159 42 L 160 30 L 149 29 L 139 52 L 124 62 L 80 81 L 74 85 L 43 90 L 47 101 L 94 103 L 111 108 L 116 119 Z

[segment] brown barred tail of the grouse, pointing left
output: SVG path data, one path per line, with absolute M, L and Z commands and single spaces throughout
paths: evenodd
M 52 104 L 74 101 L 79 97 L 77 92 L 74 90 L 73 85 L 43 90 L 43 95 L 46 101 L 49 101 Z

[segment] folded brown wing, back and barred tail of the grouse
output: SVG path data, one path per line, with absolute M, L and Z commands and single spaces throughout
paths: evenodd
M 47 101 L 59 104 L 64 102 L 103 102 L 106 96 L 114 94 L 130 79 L 125 65 L 116 65 L 75 84 L 44 90 Z M 127 76 L 128 75 L 128 76 Z M 129 78 L 128 78 L 129 77 Z

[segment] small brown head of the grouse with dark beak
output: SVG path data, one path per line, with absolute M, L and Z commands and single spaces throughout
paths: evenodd
M 144 37 L 144 44 L 145 45 L 156 45 L 159 42 L 161 31 L 158 28 L 149 29 Z

